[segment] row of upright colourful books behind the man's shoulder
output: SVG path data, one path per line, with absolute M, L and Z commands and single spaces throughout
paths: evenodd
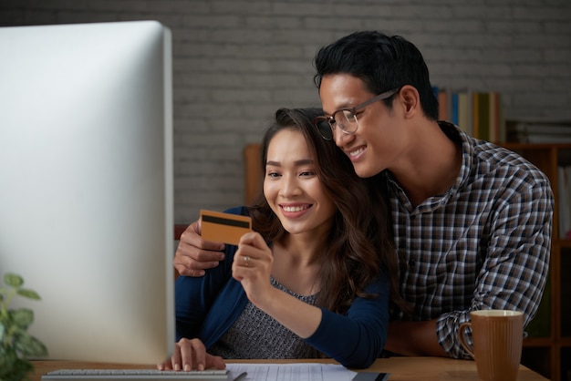
M 439 119 L 448 120 L 477 139 L 504 143 L 506 127 L 502 96 L 497 91 L 434 87 Z

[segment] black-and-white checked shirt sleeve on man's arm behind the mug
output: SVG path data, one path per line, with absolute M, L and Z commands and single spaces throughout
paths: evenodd
M 546 180 L 525 189 L 508 187 L 505 192 L 494 213 L 470 309 L 442 314 L 437 320 L 439 343 L 455 358 L 469 358 L 458 340 L 458 328 L 470 321 L 471 311 L 522 311 L 525 326 L 541 302 L 549 268 L 553 192 Z M 471 335 L 468 330 L 470 344 Z

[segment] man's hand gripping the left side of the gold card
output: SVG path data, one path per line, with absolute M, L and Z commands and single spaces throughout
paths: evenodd
M 224 260 L 222 250 L 222 242 L 202 240 L 200 220 L 194 221 L 182 232 L 172 264 L 181 275 L 202 276 Z

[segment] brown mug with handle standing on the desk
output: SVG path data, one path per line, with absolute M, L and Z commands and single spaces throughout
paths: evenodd
M 508 310 L 480 310 L 470 313 L 471 322 L 460 324 L 458 338 L 476 362 L 484 381 L 515 381 L 522 359 L 524 314 Z M 464 331 L 472 327 L 472 347 Z

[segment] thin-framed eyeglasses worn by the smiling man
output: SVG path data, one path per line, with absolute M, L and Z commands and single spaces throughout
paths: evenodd
M 313 125 L 317 128 L 323 139 L 333 139 L 335 129 L 338 127 L 344 134 L 350 135 L 357 131 L 358 120 L 357 110 L 369 106 L 379 100 L 384 100 L 392 97 L 398 93 L 400 88 L 393 88 L 392 90 L 385 91 L 375 98 L 369 99 L 365 103 L 361 103 L 354 108 L 340 108 L 337 109 L 330 117 L 317 117 L 313 119 Z

